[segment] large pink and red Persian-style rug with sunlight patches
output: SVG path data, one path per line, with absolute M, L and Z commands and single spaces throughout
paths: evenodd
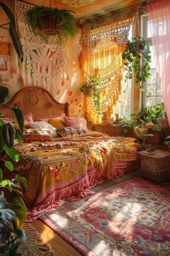
M 41 220 L 82 255 L 170 256 L 170 184 L 140 177 L 115 183 Z

